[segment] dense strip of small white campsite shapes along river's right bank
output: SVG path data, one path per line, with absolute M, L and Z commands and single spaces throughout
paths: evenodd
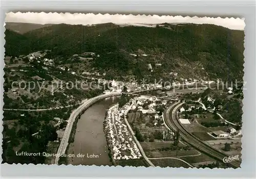
M 124 113 L 127 108 L 129 105 L 124 105 L 119 110 L 118 104 L 116 104 L 106 114 L 105 132 L 114 160 L 141 158 L 140 150 L 124 121 Z

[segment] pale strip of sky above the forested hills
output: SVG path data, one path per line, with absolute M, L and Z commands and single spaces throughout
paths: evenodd
M 82 13 L 7 13 L 6 22 L 27 22 L 27 23 L 67 23 L 67 24 L 83 24 L 91 25 L 97 23 L 116 23 L 116 24 L 157 24 L 157 23 L 209 23 L 215 25 L 221 25 L 225 28 L 233 30 L 244 30 L 245 22 L 244 19 L 240 18 L 212 18 L 212 17 L 182 17 L 182 16 L 158 16 L 158 15 L 110 15 L 110 14 L 82 14 Z

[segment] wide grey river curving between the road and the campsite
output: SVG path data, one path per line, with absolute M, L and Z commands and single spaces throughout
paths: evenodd
M 76 126 L 73 165 L 111 165 L 103 121 L 106 110 L 117 102 L 117 96 L 102 99 L 81 115 Z M 77 157 L 78 154 L 84 156 Z M 93 158 L 88 158 L 87 154 Z

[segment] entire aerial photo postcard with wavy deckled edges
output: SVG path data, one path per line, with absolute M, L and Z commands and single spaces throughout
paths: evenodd
M 13 13 L 2 163 L 239 168 L 242 18 Z

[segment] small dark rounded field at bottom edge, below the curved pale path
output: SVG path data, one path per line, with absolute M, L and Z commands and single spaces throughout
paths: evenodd
M 190 166 L 186 163 L 176 159 L 154 159 L 150 160 L 155 166 L 159 167 L 184 167 L 189 168 Z

